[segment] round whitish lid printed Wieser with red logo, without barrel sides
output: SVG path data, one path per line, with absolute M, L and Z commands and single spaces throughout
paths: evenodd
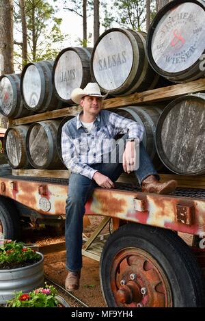
M 195 3 L 169 10 L 159 21 L 152 38 L 155 63 L 167 72 L 192 66 L 202 55 L 205 42 L 205 12 Z

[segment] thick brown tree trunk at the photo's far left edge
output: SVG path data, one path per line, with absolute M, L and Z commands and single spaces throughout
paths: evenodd
M 0 71 L 14 73 L 13 1 L 0 1 Z

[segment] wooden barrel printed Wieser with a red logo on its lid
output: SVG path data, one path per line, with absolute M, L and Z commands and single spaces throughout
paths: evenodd
M 176 83 L 204 77 L 205 3 L 174 0 L 154 17 L 147 39 L 148 60 Z

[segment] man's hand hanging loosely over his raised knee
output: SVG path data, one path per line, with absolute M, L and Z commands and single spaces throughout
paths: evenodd
M 135 141 L 127 142 L 125 151 L 123 153 L 123 169 L 124 172 L 133 172 L 136 168 L 136 149 L 135 149 Z

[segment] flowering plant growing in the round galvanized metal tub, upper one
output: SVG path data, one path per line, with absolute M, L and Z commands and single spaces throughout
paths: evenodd
M 0 242 L 0 270 L 20 268 L 40 261 L 40 254 L 22 242 Z

